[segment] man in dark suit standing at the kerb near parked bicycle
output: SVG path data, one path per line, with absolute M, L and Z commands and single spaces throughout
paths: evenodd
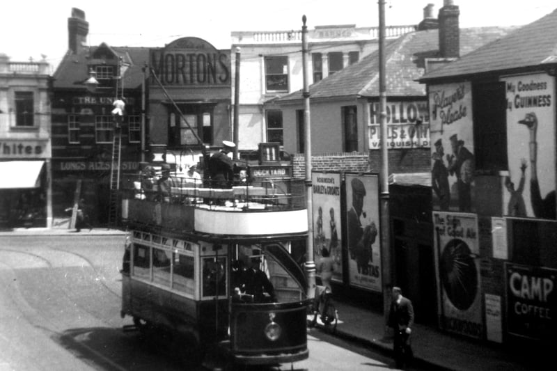
M 414 307 L 410 299 L 402 297 L 400 287 L 393 287 L 393 301 L 389 310 L 388 326 L 394 331 L 394 351 L 397 368 L 408 365 L 412 358 L 411 327 L 414 326 Z

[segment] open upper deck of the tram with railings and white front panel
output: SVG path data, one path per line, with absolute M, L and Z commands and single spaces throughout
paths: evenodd
M 230 237 L 308 231 L 302 179 L 257 180 L 221 189 L 173 176 L 164 191 L 156 182 L 144 187 L 146 180 L 139 175 L 129 179 L 133 187 L 123 192 L 122 219 L 134 226 Z

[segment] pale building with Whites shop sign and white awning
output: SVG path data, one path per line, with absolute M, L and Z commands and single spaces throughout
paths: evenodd
M 0 228 L 52 226 L 49 64 L 0 54 Z

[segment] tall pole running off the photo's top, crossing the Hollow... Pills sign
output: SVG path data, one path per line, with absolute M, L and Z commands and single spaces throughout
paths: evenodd
M 387 113 L 385 84 L 385 0 L 379 0 L 379 127 L 381 132 L 381 265 L 383 280 L 384 334 L 389 336 L 387 319 L 391 306 L 391 243 L 389 232 L 389 152 L 387 150 Z

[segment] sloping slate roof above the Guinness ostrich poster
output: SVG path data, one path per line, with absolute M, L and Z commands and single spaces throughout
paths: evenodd
M 458 61 L 434 70 L 421 81 L 451 76 L 515 70 L 557 63 L 557 9 Z

